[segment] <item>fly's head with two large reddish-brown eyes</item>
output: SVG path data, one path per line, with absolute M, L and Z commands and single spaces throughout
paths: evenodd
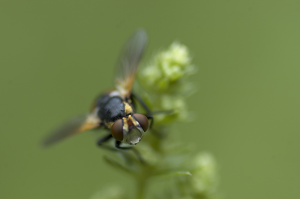
M 117 120 L 111 127 L 111 133 L 113 138 L 118 141 L 136 145 L 141 141 L 148 128 L 148 118 L 141 113 L 135 113 Z

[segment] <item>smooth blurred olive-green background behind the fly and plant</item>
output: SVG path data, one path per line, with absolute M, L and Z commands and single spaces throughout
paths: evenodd
M 124 42 L 179 40 L 199 67 L 182 142 L 210 151 L 223 198 L 300 198 L 299 1 L 1 1 L 0 198 L 90 198 L 133 180 L 95 134 L 41 139 L 113 86 Z

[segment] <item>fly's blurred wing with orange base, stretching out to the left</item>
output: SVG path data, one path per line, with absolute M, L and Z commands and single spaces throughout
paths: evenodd
M 54 142 L 60 141 L 77 133 L 97 128 L 99 125 L 100 119 L 97 116 L 92 114 L 87 116 L 78 116 L 56 129 L 52 134 L 46 137 L 43 144 L 44 146 L 51 145 Z

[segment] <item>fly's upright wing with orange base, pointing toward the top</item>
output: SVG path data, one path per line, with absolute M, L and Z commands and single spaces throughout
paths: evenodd
M 129 97 L 131 94 L 131 87 L 146 44 L 146 31 L 140 29 L 129 39 L 120 56 L 117 68 L 116 87 L 125 97 Z

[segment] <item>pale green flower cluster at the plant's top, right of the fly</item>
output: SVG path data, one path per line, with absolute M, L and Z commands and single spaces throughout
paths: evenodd
M 148 95 L 144 96 L 144 100 L 151 110 L 173 110 L 172 114 L 155 115 L 156 123 L 187 119 L 185 98 L 195 92 L 193 83 L 188 79 L 196 71 L 191 61 L 188 48 L 173 42 L 141 68 L 139 82 L 147 89 Z

